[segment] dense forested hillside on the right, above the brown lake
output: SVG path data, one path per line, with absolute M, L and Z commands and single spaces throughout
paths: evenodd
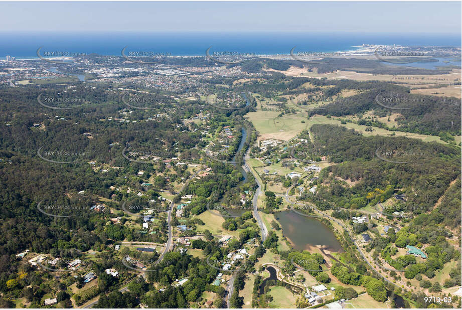
M 425 213 L 460 175 L 460 150 L 449 144 L 406 137 L 365 137 L 333 125 L 316 124 L 311 132 L 315 145 L 307 147 L 330 154 L 329 161 L 337 163 L 320 174 L 318 194 L 313 198 L 320 204 L 362 208 L 384 202 L 399 191 L 408 197 L 402 210 Z M 378 149 L 399 156 L 387 162 L 377 156 Z M 347 180 L 353 184 L 348 185 Z M 446 221 L 453 227 L 460 225 L 454 219 Z

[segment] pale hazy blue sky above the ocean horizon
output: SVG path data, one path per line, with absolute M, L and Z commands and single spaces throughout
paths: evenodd
M 461 32 L 461 2 L 0 2 L 0 32 Z

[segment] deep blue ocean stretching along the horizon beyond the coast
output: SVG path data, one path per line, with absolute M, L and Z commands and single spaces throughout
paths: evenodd
M 205 56 L 212 52 L 289 54 L 296 51 L 354 51 L 362 44 L 460 47 L 460 35 L 447 34 L 371 34 L 371 33 L 0 33 L 0 58 L 38 58 L 37 49 L 62 52 L 120 56 L 129 51 L 171 56 Z

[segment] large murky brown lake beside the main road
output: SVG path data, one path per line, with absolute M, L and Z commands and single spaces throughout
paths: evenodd
M 310 246 L 323 245 L 329 251 L 343 251 L 335 234 L 317 219 L 298 215 L 291 210 L 277 212 L 275 217 L 294 249 L 307 250 Z

